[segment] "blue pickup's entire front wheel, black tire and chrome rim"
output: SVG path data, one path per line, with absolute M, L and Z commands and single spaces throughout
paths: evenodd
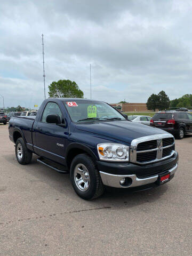
M 87 154 L 77 155 L 70 167 L 70 179 L 78 196 L 94 199 L 101 196 L 104 186 L 92 158 Z

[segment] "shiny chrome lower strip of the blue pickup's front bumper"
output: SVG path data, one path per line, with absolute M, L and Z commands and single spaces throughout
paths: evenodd
M 170 172 L 170 175 L 173 175 L 177 171 L 177 168 L 178 168 L 178 163 L 173 168 L 168 170 Z M 142 185 L 147 185 L 149 183 L 154 183 L 158 179 L 158 175 L 154 175 L 154 176 L 144 178 L 144 179 L 139 179 L 139 178 L 137 178 L 137 176 L 135 174 L 115 175 L 115 174 L 101 172 L 101 171 L 100 171 L 100 175 L 101 175 L 101 179 L 102 179 L 102 182 L 104 185 L 109 186 L 109 187 L 115 187 L 115 188 L 138 187 L 138 186 L 142 186 Z M 121 185 L 120 180 L 122 178 L 131 178 L 132 183 L 128 186 Z

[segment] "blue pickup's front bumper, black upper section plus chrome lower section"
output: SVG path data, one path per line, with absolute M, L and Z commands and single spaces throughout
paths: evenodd
M 158 163 L 148 164 L 145 166 L 132 163 L 117 164 L 118 169 L 115 170 L 115 163 L 98 162 L 101 179 L 104 185 L 115 188 L 131 188 L 157 183 L 158 175 L 165 172 L 170 172 L 172 179 L 174 173 L 178 169 L 178 153 Z M 111 168 L 110 168 L 111 165 Z M 120 180 L 125 178 L 126 182 L 121 185 Z

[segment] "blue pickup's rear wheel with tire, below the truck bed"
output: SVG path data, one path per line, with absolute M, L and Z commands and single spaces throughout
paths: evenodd
M 31 161 L 33 153 L 27 149 L 26 144 L 22 138 L 19 138 L 15 143 L 15 155 L 17 161 L 20 164 L 29 164 Z

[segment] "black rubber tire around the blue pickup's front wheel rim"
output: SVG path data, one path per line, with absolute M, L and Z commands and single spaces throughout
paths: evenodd
M 77 170 L 76 168 L 79 165 L 85 166 L 85 170 L 88 171 L 88 174 L 86 173 L 87 174 L 86 178 L 89 176 L 89 179 L 88 179 L 89 187 L 87 188 L 86 191 L 81 191 L 81 188 L 79 188 L 78 185 L 76 184 L 77 183 L 76 178 L 78 178 L 77 175 L 81 176 L 81 174 L 77 174 L 75 176 L 76 170 Z M 81 166 L 79 167 L 79 169 L 80 168 L 81 168 Z M 101 177 L 99 174 L 99 171 L 98 171 L 97 167 L 95 166 L 93 159 L 87 154 L 79 154 L 73 159 L 71 166 L 70 166 L 70 179 L 71 179 L 71 183 L 72 183 L 73 188 L 74 188 L 75 192 L 77 193 L 77 195 L 86 200 L 92 200 L 94 198 L 101 196 L 105 190 L 105 187 L 103 186 L 103 183 L 102 183 L 102 180 L 101 180 Z M 84 186 L 85 186 L 85 183 L 84 183 Z

